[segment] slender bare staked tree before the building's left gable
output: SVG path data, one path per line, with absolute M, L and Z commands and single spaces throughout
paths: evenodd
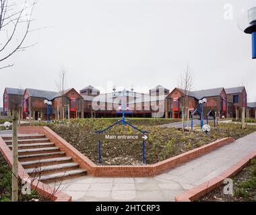
M 67 85 L 67 73 L 65 71 L 65 69 L 62 67 L 61 71 L 59 73 L 59 81 L 55 81 L 57 89 L 61 95 L 61 112 L 62 112 L 62 116 L 64 118 L 65 116 L 65 87 Z M 59 119 L 59 108 L 57 108 L 57 114 L 58 114 L 58 119 Z M 67 117 L 69 119 L 69 104 L 67 103 Z

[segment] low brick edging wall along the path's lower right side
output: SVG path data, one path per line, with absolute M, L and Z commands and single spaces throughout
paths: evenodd
M 235 165 L 232 165 L 232 167 L 228 168 L 226 171 L 224 171 L 217 177 L 214 177 L 209 181 L 205 181 L 204 183 L 201 183 L 201 185 L 195 186 L 192 189 L 184 191 L 183 193 L 181 193 L 181 195 L 176 196 L 175 201 L 193 202 L 194 200 L 197 200 L 198 198 L 204 196 L 206 193 L 209 193 L 213 189 L 220 187 L 220 185 L 223 184 L 224 179 L 236 175 L 236 173 L 241 171 L 243 167 L 245 167 L 247 163 L 253 158 L 256 158 L 256 150 L 247 155 L 246 157 L 244 157 L 243 159 L 241 159 L 241 161 L 238 161 L 238 163 L 236 163 Z

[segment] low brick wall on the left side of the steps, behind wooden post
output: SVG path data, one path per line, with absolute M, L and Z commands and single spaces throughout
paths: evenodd
M 0 152 L 9 164 L 9 167 L 12 168 L 13 165 L 13 158 L 12 158 L 12 151 L 9 149 L 7 144 L 5 144 L 5 141 L 0 136 Z M 22 167 L 20 162 L 18 162 L 18 175 L 20 179 L 30 179 L 30 176 L 28 173 L 26 173 L 25 169 Z M 42 183 L 38 180 L 33 180 L 31 184 L 32 189 L 36 189 L 38 194 L 40 196 L 43 196 L 44 198 L 49 198 L 50 200 L 53 200 L 55 202 L 70 202 L 71 196 L 68 196 L 66 193 L 63 193 L 62 191 L 56 191 L 54 187 L 51 187 L 50 185 L 47 185 L 45 183 Z

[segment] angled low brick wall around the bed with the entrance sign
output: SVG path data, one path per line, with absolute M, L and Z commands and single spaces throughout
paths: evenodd
M 48 127 L 40 126 L 22 126 L 19 128 L 20 134 L 44 134 L 47 138 L 54 142 L 56 146 L 65 151 L 68 156 L 73 158 L 73 161 L 79 163 L 82 169 L 86 169 L 89 175 L 96 177 L 151 177 L 163 173 L 164 171 L 177 167 L 187 161 L 191 161 L 205 153 L 209 153 L 216 148 L 220 148 L 225 144 L 234 142 L 233 138 L 222 138 L 210 144 L 206 144 L 199 148 L 188 151 L 181 155 L 177 155 L 165 161 L 160 161 L 154 165 L 141 165 L 141 166 L 99 166 L 93 163 L 88 157 L 84 156 L 77 149 L 75 149 L 66 140 L 57 135 L 53 130 Z

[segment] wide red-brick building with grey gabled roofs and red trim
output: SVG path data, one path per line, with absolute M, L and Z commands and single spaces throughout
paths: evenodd
M 100 91 L 91 85 L 80 90 L 79 93 L 74 88 L 60 93 L 7 87 L 3 93 L 3 114 L 10 115 L 13 110 L 18 110 L 21 118 L 31 117 L 35 120 L 38 118 L 45 120 L 48 116 L 52 119 L 107 118 L 120 117 L 124 107 L 127 117 L 181 118 L 183 96 L 183 89 L 176 87 L 170 91 L 160 85 L 150 89 L 148 94 L 137 93 L 133 89 L 130 91 L 113 89 L 112 93 L 100 94 Z M 238 110 L 240 118 L 241 108 L 247 107 L 245 87 L 189 91 L 188 107 L 196 110 L 199 108 L 199 100 L 203 98 L 207 99 L 204 104 L 204 115 L 212 110 L 219 118 L 234 118 L 234 112 Z M 46 105 L 45 100 L 51 101 L 52 104 Z M 250 107 L 252 116 L 254 116 L 253 108 Z

